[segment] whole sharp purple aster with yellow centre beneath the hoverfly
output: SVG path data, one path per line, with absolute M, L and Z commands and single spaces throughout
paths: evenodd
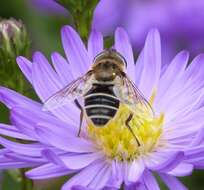
M 7 88 L 0 100 L 10 109 L 11 124 L 0 124 L 0 169 L 35 167 L 31 179 L 74 174 L 62 187 L 68 189 L 159 189 L 157 173 L 169 189 L 187 189 L 176 177 L 204 167 L 203 85 L 204 55 L 188 65 L 189 54 L 180 52 L 163 71 L 159 32 L 148 33 L 138 60 L 134 61 L 127 33 L 115 32 L 115 49 L 127 61 L 127 74 L 152 105 L 149 112 L 133 116 L 130 125 L 140 146 L 124 124 L 129 110 L 124 105 L 106 126 L 83 123 L 80 137 L 78 108 L 68 102 L 52 111 L 42 111 L 43 102 L 65 85 L 86 73 L 94 57 L 103 51 L 103 37 L 92 31 L 88 50 L 70 26 L 62 29 L 67 60 L 59 53 L 52 65 L 36 52 L 33 60 L 18 57 L 17 63 L 33 85 L 41 103 Z M 163 71 L 163 72 L 161 72 Z M 161 74 L 162 73 L 162 74 Z

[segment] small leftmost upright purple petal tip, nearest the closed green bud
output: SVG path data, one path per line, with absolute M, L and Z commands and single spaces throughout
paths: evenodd
M 27 80 L 32 84 L 32 62 L 22 56 L 17 57 L 16 62 Z

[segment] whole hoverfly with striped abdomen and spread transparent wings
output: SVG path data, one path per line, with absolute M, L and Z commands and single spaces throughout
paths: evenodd
M 129 106 L 133 112 L 137 104 L 151 109 L 148 101 L 125 73 L 126 67 L 125 58 L 116 50 L 104 50 L 95 57 L 91 69 L 85 75 L 51 96 L 45 102 L 44 109 L 52 110 L 74 101 L 81 110 L 78 136 L 84 114 L 96 127 L 103 127 L 116 115 L 120 103 Z M 77 100 L 80 97 L 84 100 L 83 106 Z M 125 124 L 139 144 L 129 125 L 132 117 L 133 113 Z

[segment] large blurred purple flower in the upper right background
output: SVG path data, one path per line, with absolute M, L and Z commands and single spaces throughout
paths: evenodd
M 169 61 L 182 49 L 190 50 L 193 56 L 203 52 L 203 20 L 202 0 L 101 0 L 94 12 L 93 28 L 110 35 L 122 26 L 135 50 L 140 50 L 149 29 L 156 27 Z

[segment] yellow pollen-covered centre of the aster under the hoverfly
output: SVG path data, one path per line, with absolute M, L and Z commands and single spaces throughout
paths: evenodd
M 154 151 L 159 144 L 164 114 L 152 116 L 150 110 L 137 105 L 129 122 L 133 135 L 126 125 L 131 113 L 133 110 L 121 104 L 115 117 L 105 126 L 97 127 L 91 123 L 87 126 L 88 138 L 109 159 L 131 161 L 140 155 Z

